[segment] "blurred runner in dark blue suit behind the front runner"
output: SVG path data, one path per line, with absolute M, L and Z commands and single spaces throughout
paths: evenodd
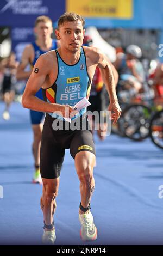
M 17 80 L 28 79 L 33 66 L 39 56 L 47 51 L 54 50 L 58 47 L 58 41 L 51 38 L 53 33 L 53 22 L 48 16 L 39 16 L 35 20 L 34 33 L 36 40 L 32 44 L 26 46 L 23 51 L 21 63 L 17 69 Z M 26 67 L 30 65 L 31 70 L 26 71 Z M 43 100 L 42 90 L 36 93 L 36 96 Z M 33 129 L 33 156 L 35 172 L 33 176 L 33 183 L 42 184 L 40 175 L 40 145 L 42 136 L 42 120 L 43 112 L 30 110 L 30 120 Z

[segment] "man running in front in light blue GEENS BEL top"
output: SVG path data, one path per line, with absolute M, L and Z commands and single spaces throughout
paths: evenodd
M 43 125 L 40 171 L 43 181 L 41 209 L 44 217 L 43 242 L 55 242 L 53 214 L 56 209 L 59 176 L 64 161 L 65 149 L 70 148 L 80 181 L 81 202 L 79 220 L 82 225 L 80 236 L 85 240 L 97 238 L 97 228 L 90 212 L 91 196 L 95 189 L 93 167 L 95 147 L 92 134 L 87 129 L 68 129 L 65 109 L 68 109 L 72 123 L 86 120 L 86 109 L 79 113 L 72 108 L 84 97 L 89 98 L 91 81 L 98 66 L 110 97 L 109 111 L 114 123 L 121 114 L 118 105 L 114 78 L 105 56 L 95 48 L 83 46 L 84 19 L 76 13 L 65 13 L 58 20 L 55 31 L 60 40 L 60 48 L 39 57 L 27 82 L 22 97 L 23 107 L 46 112 Z M 42 88 L 45 101 L 35 94 Z M 57 112 L 55 118 L 53 112 Z M 75 115 L 76 114 L 76 115 Z M 59 129 L 54 125 L 58 120 Z M 82 123 L 82 122 L 81 122 Z M 62 125 L 63 124 L 63 127 Z M 71 127 L 68 123 L 68 127 Z M 60 128 L 61 127 L 61 128 Z

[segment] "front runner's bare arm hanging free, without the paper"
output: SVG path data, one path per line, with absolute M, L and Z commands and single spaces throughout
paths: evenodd
M 102 78 L 106 87 L 106 90 L 109 94 L 110 104 L 108 110 L 113 112 L 111 114 L 111 119 L 114 120 L 114 123 L 120 118 L 121 108 L 118 104 L 118 99 L 116 95 L 114 75 L 112 74 L 111 65 L 108 62 L 107 57 L 101 53 L 101 51 L 96 48 L 91 51 L 89 54 L 93 63 L 97 64 L 97 66 L 101 69 Z

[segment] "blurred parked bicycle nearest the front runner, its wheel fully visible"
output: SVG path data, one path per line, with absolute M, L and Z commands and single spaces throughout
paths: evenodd
M 134 141 L 142 141 L 149 136 L 149 123 L 152 115 L 149 101 L 152 97 L 150 90 L 136 95 L 132 83 L 119 81 L 118 99 L 122 114 L 116 127 L 118 135 L 126 136 Z

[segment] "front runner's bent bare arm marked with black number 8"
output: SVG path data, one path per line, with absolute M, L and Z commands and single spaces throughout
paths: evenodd
M 64 117 L 69 117 L 65 115 L 65 106 L 57 103 L 48 103 L 46 101 L 40 100 L 38 97 L 35 96 L 36 92 L 38 92 L 42 85 L 45 84 L 46 78 L 49 78 L 48 80 L 51 84 L 53 84 L 53 78 L 51 78 L 51 74 L 52 72 L 54 72 L 53 70 L 55 68 L 55 65 L 54 59 L 52 61 L 52 58 L 49 58 L 48 54 L 49 53 L 42 54 L 36 61 L 32 74 L 30 75 L 27 82 L 26 89 L 23 93 L 22 106 L 24 108 L 29 108 L 40 112 L 61 112 Z M 76 111 L 74 111 L 73 108 L 69 107 L 68 113 L 70 114 L 71 112 Z

